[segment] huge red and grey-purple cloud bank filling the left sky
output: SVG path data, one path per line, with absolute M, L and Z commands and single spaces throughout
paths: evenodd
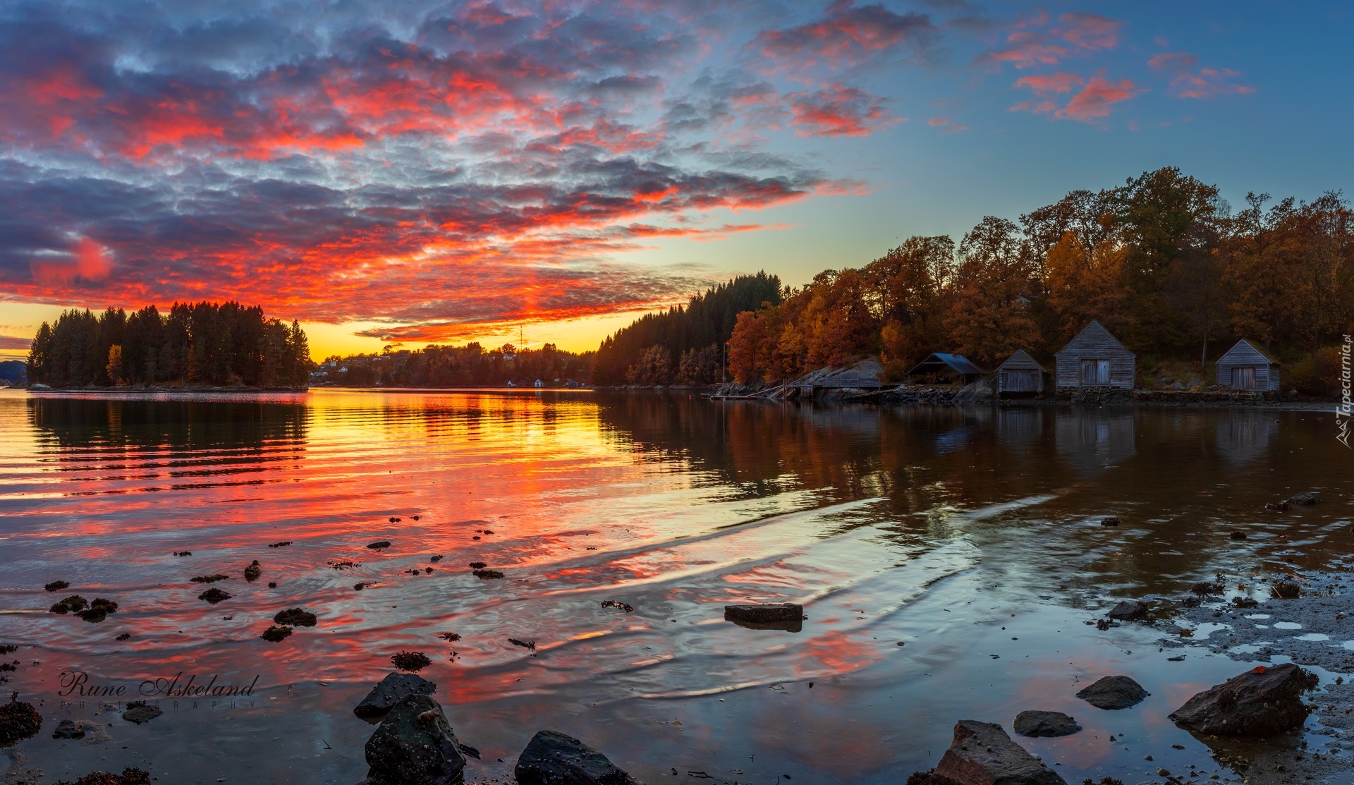
M 720 3 L 8 4 L 0 290 L 233 298 L 394 337 L 666 305 L 705 272 L 623 254 L 868 192 L 764 135 L 899 122 L 852 69 L 932 35 L 852 3 L 770 31 Z M 810 65 L 837 73 L 787 76 Z

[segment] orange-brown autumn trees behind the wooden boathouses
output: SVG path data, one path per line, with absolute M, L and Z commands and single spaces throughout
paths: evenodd
M 1326 392 L 1354 325 L 1351 217 L 1340 192 L 1248 194 L 1233 212 L 1216 185 L 1145 172 L 1018 222 L 986 217 L 959 244 L 911 237 L 861 268 L 823 271 L 738 315 L 728 369 L 772 382 L 879 355 L 900 379 L 936 351 L 991 368 L 1016 349 L 1051 357 L 1094 318 L 1140 368 L 1206 368 L 1244 337 L 1294 386 Z

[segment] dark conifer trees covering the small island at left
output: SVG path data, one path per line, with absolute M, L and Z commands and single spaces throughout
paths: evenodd
M 311 367 L 299 323 L 236 302 L 175 303 L 168 314 L 68 310 L 38 328 L 28 351 L 28 382 L 51 387 L 305 387 Z

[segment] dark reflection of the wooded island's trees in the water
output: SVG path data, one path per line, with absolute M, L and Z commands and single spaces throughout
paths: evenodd
M 30 398 L 39 441 L 62 449 L 250 451 L 306 439 L 302 403 L 250 399 Z

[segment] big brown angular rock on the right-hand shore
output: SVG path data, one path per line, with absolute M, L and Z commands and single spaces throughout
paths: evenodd
M 1271 736 L 1307 721 L 1303 693 L 1316 682 L 1293 663 L 1259 666 L 1196 694 L 1170 717 L 1200 734 Z

